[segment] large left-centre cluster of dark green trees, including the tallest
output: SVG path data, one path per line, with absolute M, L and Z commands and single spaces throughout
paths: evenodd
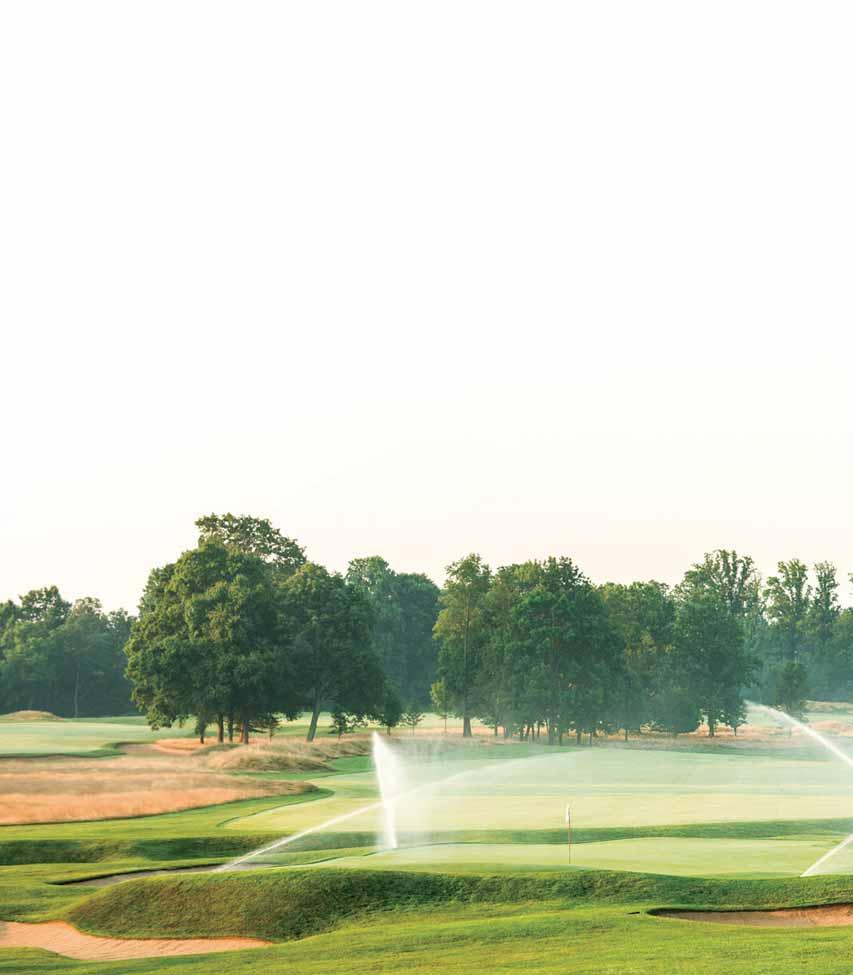
M 210 515 L 198 545 L 148 580 L 126 651 L 133 700 L 154 725 L 192 717 L 204 738 L 272 729 L 328 709 L 339 733 L 388 727 L 429 699 L 438 589 L 380 558 L 346 575 L 305 558 L 269 521 Z

